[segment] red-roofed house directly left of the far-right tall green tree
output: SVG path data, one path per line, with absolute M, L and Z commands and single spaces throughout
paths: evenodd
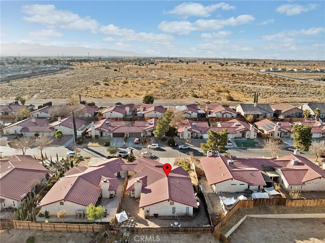
M 274 122 L 269 119 L 263 119 L 255 122 L 255 126 L 262 134 L 268 134 L 272 137 L 293 137 L 293 124 L 285 121 Z

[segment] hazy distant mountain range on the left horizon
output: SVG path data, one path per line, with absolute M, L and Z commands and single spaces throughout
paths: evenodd
M 45 46 L 41 44 L 18 44 L 18 43 L 1 43 L 0 54 L 4 56 L 24 57 L 24 56 L 150 56 L 136 52 L 118 51 L 108 48 L 87 48 L 87 47 L 60 47 L 60 46 Z

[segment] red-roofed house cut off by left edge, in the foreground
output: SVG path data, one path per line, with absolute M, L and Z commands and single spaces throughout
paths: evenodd
M 0 159 L 1 210 L 17 209 L 29 192 L 35 191 L 37 183 L 46 182 L 48 173 L 39 161 L 30 155 L 14 155 Z

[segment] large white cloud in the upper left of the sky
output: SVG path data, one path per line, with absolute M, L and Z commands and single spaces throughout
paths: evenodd
M 29 23 L 38 23 L 49 28 L 91 30 L 95 31 L 99 23 L 89 16 L 81 18 L 78 14 L 69 11 L 57 10 L 54 5 L 24 5 L 22 12 L 30 16 L 23 19 Z

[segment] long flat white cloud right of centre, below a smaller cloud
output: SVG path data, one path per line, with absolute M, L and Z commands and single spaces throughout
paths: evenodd
M 158 28 L 166 33 L 185 35 L 191 31 L 196 30 L 216 30 L 224 26 L 237 26 L 247 24 L 254 21 L 255 18 L 251 15 L 240 15 L 237 18 L 231 17 L 229 19 L 199 19 L 193 23 L 189 21 L 163 21 L 158 25 Z

